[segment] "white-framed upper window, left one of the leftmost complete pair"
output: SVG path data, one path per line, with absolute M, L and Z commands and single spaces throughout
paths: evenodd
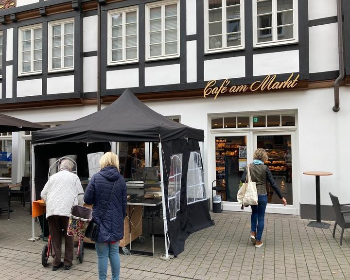
M 42 71 L 42 25 L 18 29 L 18 75 Z

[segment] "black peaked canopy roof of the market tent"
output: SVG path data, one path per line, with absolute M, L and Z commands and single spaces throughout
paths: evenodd
M 176 123 L 144 105 L 129 89 L 101 111 L 67 124 L 32 133 L 33 143 L 159 142 L 179 138 L 204 140 L 204 132 Z

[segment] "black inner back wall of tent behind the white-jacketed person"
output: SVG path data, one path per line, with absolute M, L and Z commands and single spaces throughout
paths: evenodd
M 89 145 L 78 142 L 35 145 L 35 199 L 41 199 L 40 192 L 48 180 L 50 158 L 76 155 L 78 176 L 87 178 L 89 176 L 87 155 L 109 152 L 110 147 L 109 142 L 90 143 Z

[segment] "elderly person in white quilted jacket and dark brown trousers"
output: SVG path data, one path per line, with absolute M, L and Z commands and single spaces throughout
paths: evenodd
M 73 237 L 67 235 L 70 209 L 78 193 L 83 193 L 79 177 L 71 173 L 74 165 L 69 159 L 60 163 L 60 171 L 52 175 L 41 192 L 46 203 L 46 219 L 49 221 L 51 241 L 53 245 L 53 270 L 65 266 L 69 270 L 73 261 Z M 83 196 L 74 201 L 83 205 Z M 65 233 L 65 256 L 61 262 L 62 229 Z

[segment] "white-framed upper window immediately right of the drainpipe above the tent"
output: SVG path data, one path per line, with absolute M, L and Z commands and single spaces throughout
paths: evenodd
M 108 12 L 108 64 L 137 62 L 138 6 Z

